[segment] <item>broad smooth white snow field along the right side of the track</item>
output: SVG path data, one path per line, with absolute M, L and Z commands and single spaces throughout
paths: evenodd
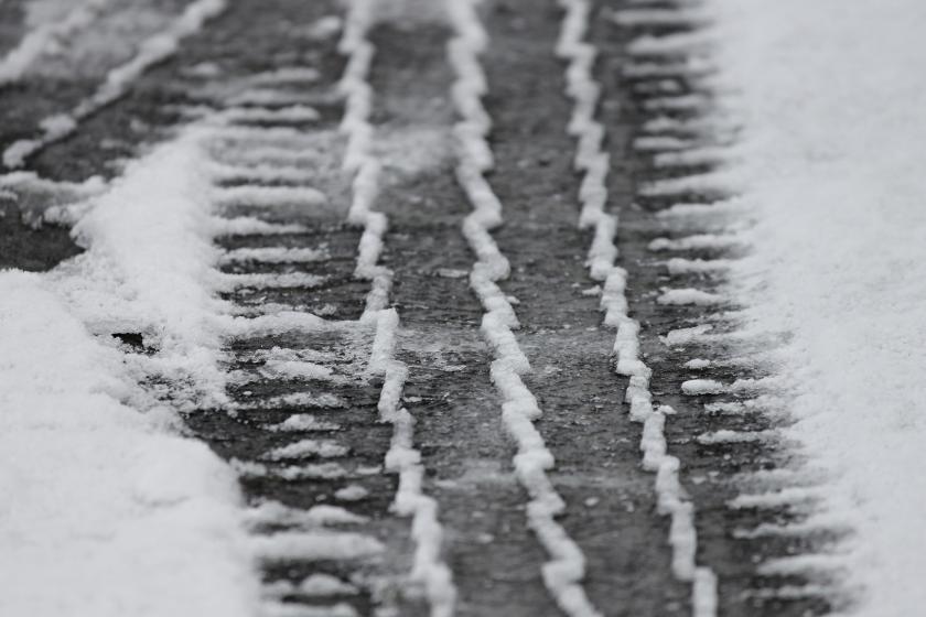
M 861 615 L 926 606 L 926 4 L 711 0 L 758 225 L 753 327 L 794 335 L 789 405 L 858 534 Z M 755 281 L 764 284 L 755 285 Z

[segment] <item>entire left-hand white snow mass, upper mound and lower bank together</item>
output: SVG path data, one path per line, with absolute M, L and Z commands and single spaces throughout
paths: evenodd
M 200 138 L 157 148 L 89 198 L 74 228 L 86 252 L 0 273 L 3 615 L 257 610 L 235 474 L 139 387 L 184 383 L 174 409 L 224 397 Z M 115 334 L 141 335 L 148 353 Z

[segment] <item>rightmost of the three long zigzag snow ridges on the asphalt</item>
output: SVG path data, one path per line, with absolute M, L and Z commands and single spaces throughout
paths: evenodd
M 614 345 L 618 356 L 617 372 L 631 378 L 626 393 L 627 402 L 631 403 L 631 418 L 644 423 L 640 442 L 643 466 L 656 473 L 659 512 L 671 517 L 669 543 L 672 549 L 672 572 L 678 580 L 691 584 L 693 615 L 713 617 L 717 614 L 717 576 L 710 567 L 698 566 L 696 563 L 698 539 L 694 508 L 679 483 L 679 459 L 666 453 L 665 422 L 674 410 L 666 405 L 653 409 L 650 369 L 638 358 L 639 324 L 627 315 L 624 293 L 627 273 L 614 264 L 617 257 L 614 243 L 617 217 L 604 209 L 610 160 L 602 149 L 604 127 L 595 120 L 600 95 L 600 86 L 592 75 L 595 47 L 584 43 L 592 3 L 588 0 L 560 0 L 560 7 L 566 13 L 556 51 L 560 57 L 569 61 L 566 71 L 567 95 L 575 105 L 568 131 L 578 140 L 574 165 L 583 173 L 579 190 L 582 207 L 579 225 L 594 230 L 586 264 L 591 277 L 604 284 L 601 299 L 604 323 L 617 328 Z

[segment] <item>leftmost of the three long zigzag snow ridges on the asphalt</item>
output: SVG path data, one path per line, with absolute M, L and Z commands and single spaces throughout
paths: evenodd
M 379 418 L 392 425 L 392 440 L 386 454 L 386 469 L 399 475 L 392 508 L 399 516 L 412 517 L 416 550 L 409 580 L 424 587 L 431 617 L 451 617 L 456 605 L 456 587 L 453 573 L 441 556 L 443 527 L 438 519 L 438 502 L 422 492 L 424 466 L 421 453 L 413 445 L 414 418 L 401 405 L 408 367 L 395 358 L 399 314 L 388 307 L 392 271 L 378 264 L 388 219 L 373 209 L 381 170 L 373 153 L 374 128 L 369 122 L 373 89 L 368 76 L 376 50 L 367 35 L 373 25 L 374 1 L 351 1 L 340 43 L 341 53 L 347 56 L 340 83 L 346 97 L 341 123 L 347 136 L 344 169 L 354 174 L 347 219 L 364 228 L 355 275 L 369 280 L 372 285 L 360 323 L 372 323 L 376 328 L 368 371 L 384 378 Z

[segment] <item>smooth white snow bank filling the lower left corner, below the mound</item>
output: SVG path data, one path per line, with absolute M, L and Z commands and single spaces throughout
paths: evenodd
M 121 354 L 44 277 L 0 273 L 0 614 L 255 615 L 235 475 L 122 404 Z

